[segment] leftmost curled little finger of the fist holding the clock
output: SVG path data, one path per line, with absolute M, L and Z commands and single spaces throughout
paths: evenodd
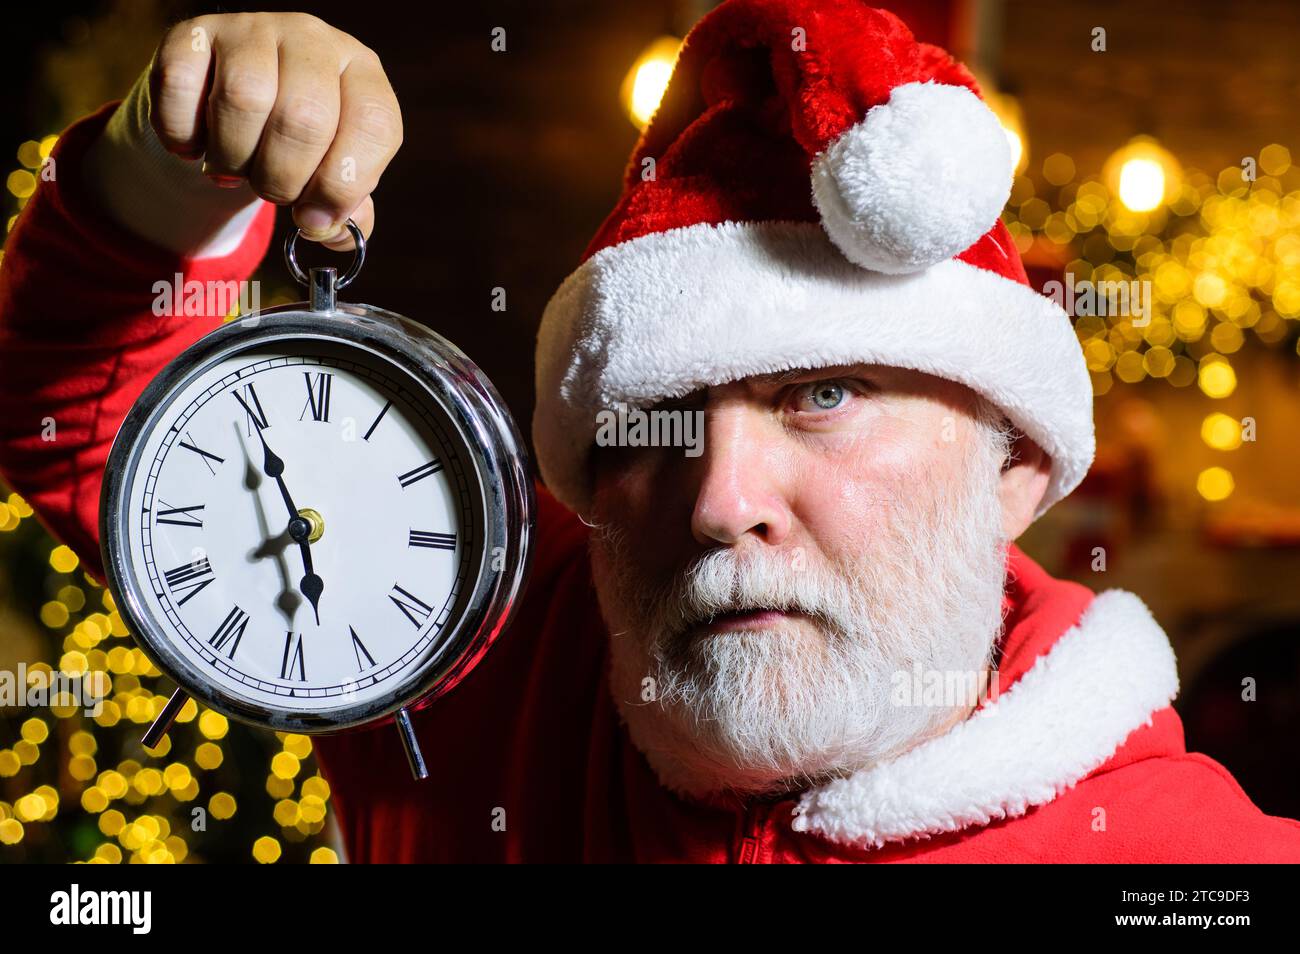
M 169 152 L 187 159 L 203 152 L 212 21 L 199 17 L 168 30 L 150 69 L 150 122 Z

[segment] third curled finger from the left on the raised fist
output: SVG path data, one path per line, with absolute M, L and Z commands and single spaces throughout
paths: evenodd
M 298 201 L 338 131 L 338 52 L 324 38 L 280 45 L 280 90 L 250 182 L 278 205 Z

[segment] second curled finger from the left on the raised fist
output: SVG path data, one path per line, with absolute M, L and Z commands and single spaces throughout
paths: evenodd
M 276 34 L 254 23 L 238 32 L 237 42 L 224 34 L 214 53 L 203 168 L 207 173 L 247 175 L 263 126 L 276 104 Z

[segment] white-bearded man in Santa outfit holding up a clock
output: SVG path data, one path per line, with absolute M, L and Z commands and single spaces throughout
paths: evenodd
M 246 278 L 266 199 L 346 248 L 399 142 L 374 53 L 280 14 L 179 25 L 60 139 L 4 259 L 0 463 L 92 565 L 122 415 L 217 321 L 153 317 L 153 281 Z M 543 316 L 540 552 L 415 717 L 438 781 L 394 733 L 318 741 L 351 859 L 1300 860 L 1300 823 L 1186 751 L 1143 603 L 1011 543 L 1093 434 L 1010 178 L 970 74 L 890 14 L 701 21 Z M 612 409 L 702 439 L 610 446 Z

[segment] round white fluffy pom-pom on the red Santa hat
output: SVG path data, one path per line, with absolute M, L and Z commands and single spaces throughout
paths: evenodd
M 812 161 L 812 198 L 850 261 L 898 274 L 970 248 L 1013 172 L 1006 133 L 975 94 L 904 83 Z

